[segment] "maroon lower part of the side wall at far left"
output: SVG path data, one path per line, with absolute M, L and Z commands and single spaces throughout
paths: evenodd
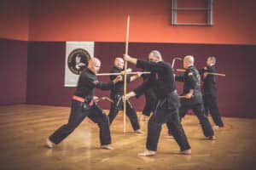
M 0 39 L 0 105 L 26 103 L 27 42 Z

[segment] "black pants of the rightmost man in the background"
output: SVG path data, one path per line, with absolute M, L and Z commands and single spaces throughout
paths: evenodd
M 205 106 L 205 114 L 208 116 L 208 111 L 212 116 L 213 122 L 218 127 L 224 127 L 224 123 L 222 122 L 221 116 L 218 112 L 217 99 L 216 96 L 213 95 L 204 95 L 204 106 Z

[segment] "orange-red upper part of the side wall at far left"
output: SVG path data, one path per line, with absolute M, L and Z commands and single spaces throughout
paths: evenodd
M 28 40 L 29 0 L 0 1 L 0 38 Z

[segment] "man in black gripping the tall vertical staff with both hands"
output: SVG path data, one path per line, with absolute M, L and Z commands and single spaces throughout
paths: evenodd
M 154 156 L 156 154 L 161 127 L 162 124 L 166 122 L 169 124 L 169 127 L 172 128 L 173 137 L 180 147 L 180 153 L 191 154 L 188 139 L 179 121 L 179 99 L 177 98 L 172 67 L 162 61 L 159 51 L 154 50 L 149 55 L 159 57 L 160 61 L 150 62 L 124 55 L 126 61 L 137 65 L 137 68 L 151 71 L 152 74 L 149 81 L 143 82 L 141 86 L 126 94 L 125 99 L 129 99 L 133 96 L 139 97 L 148 88 L 153 88 L 155 89 L 158 101 L 153 115 L 148 120 L 147 150 L 139 153 L 138 156 Z

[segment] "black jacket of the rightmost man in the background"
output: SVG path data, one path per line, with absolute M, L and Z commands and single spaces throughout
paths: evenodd
M 201 74 L 204 72 L 216 72 L 215 67 L 207 66 L 207 70 L 201 69 Z M 216 89 L 216 82 L 215 82 L 215 76 L 214 75 L 207 75 L 206 78 L 202 78 L 203 82 L 203 92 L 205 95 L 212 95 L 216 96 L 217 89 Z

